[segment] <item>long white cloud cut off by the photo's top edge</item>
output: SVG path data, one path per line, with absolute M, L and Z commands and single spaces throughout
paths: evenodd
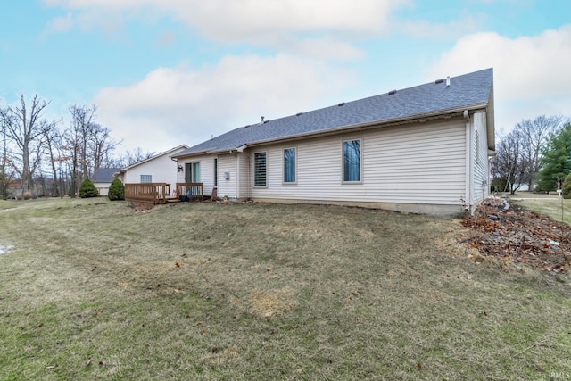
M 159 12 L 219 42 L 270 45 L 291 34 L 324 30 L 378 33 L 386 28 L 390 12 L 410 0 L 44 0 L 44 4 L 93 14 L 101 21 L 110 13 L 145 12 L 156 17 Z

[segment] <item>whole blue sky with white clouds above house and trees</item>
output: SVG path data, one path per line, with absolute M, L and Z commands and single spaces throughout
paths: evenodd
M 0 105 L 96 104 L 119 151 L 494 68 L 498 131 L 571 116 L 568 0 L 19 0 L 0 13 Z

